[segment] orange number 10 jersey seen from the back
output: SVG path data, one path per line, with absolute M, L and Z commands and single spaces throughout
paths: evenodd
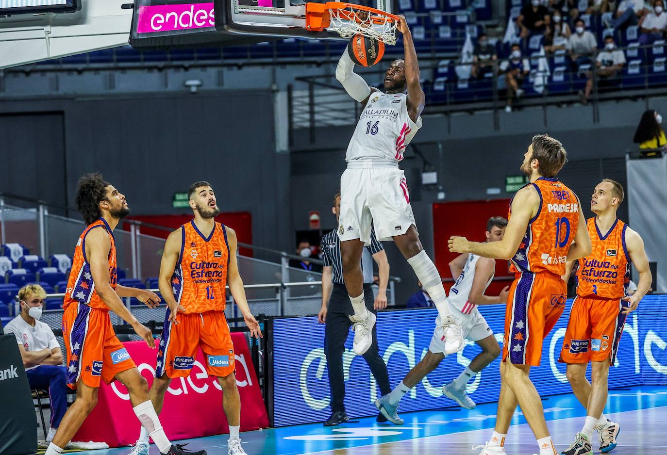
M 570 243 L 579 223 L 579 199 L 558 179 L 540 177 L 528 185 L 533 185 L 540 195 L 540 208 L 528 223 L 526 234 L 512 258 L 511 270 L 563 275 Z M 511 203 L 509 216 L 512 217 Z

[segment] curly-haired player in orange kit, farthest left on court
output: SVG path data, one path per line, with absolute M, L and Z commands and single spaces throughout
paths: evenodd
M 116 337 L 109 318 L 109 310 L 115 312 L 148 346 L 155 348 L 151 330 L 132 315 L 120 297 L 135 297 L 151 308 L 160 299 L 153 292 L 116 282 L 113 229 L 129 213 L 125 196 L 100 174 L 89 174 L 79 180 L 76 203 L 88 226 L 74 250 L 63 304 L 63 338 L 67 350 L 67 385 L 76 388 L 77 399 L 65 412 L 45 455 L 60 454 L 79 430 L 97 404 L 100 380 L 107 384 L 119 380 L 127 387 L 139 422 L 161 454 L 183 455 L 183 450 L 167 439 L 148 398 L 148 384 Z M 194 453 L 206 454 L 204 450 Z

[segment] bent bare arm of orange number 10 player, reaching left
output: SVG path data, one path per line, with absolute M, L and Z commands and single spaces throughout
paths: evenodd
M 540 196 L 532 185 L 520 189 L 512 199 L 512 217 L 505 228 L 505 235 L 498 242 L 469 242 L 466 237 L 452 237 L 450 252 L 472 252 L 492 259 L 512 259 L 526 234 L 530 219 L 540 207 Z

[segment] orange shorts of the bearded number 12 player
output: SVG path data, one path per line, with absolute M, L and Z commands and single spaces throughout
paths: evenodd
M 204 353 L 210 376 L 229 376 L 234 371 L 234 346 L 224 311 L 179 313 L 179 324 L 169 321 L 170 314 L 167 309 L 155 365 L 157 378 L 165 373 L 169 378 L 188 376 L 197 348 Z

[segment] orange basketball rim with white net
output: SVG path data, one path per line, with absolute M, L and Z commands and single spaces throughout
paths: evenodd
M 313 31 L 331 29 L 343 38 L 362 34 L 388 45 L 396 44 L 396 28 L 400 17 L 380 9 L 353 3 L 329 1 L 306 3 L 306 28 Z

